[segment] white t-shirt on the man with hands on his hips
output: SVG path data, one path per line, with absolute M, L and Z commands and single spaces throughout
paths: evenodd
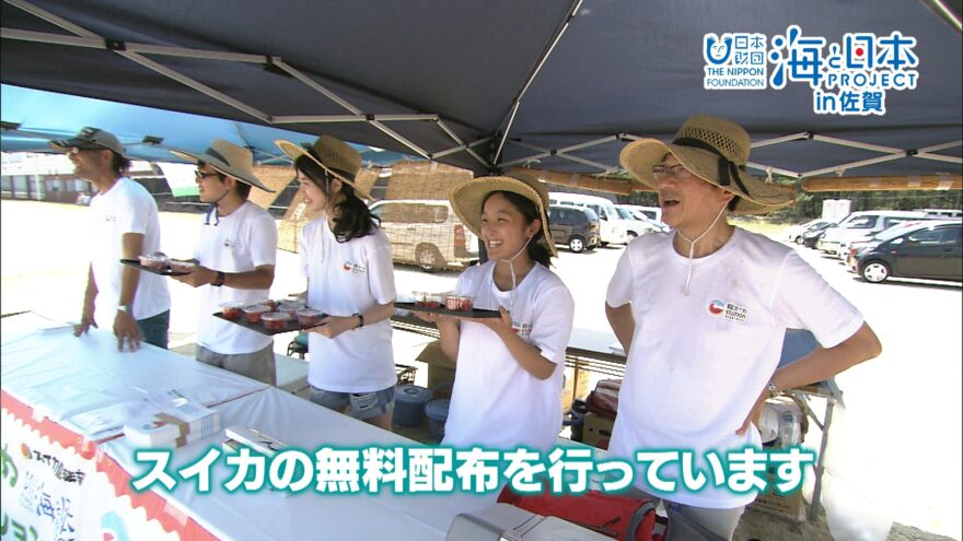
M 687 260 L 671 234 L 645 235 L 608 284 L 608 306 L 630 302 L 636 321 L 608 452 L 635 462 L 637 450 L 693 450 L 711 478 L 706 451 L 761 446 L 755 427 L 735 431 L 779 364 L 786 329 L 809 329 L 832 348 L 863 319 L 796 251 L 762 235 L 735 228 L 721 249 L 694 259 L 685 296 Z M 654 492 L 642 471 L 637 484 Z M 668 466 L 660 478 L 677 483 L 668 499 L 697 507 L 739 507 L 756 496 L 711 482 L 688 492 Z

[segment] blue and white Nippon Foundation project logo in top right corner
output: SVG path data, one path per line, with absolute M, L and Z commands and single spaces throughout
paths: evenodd
M 792 25 L 771 38 L 758 33 L 706 34 L 706 90 L 782 90 L 809 83 L 819 115 L 885 115 L 886 92 L 915 90 L 916 38 L 900 31 L 847 33 L 839 43 L 805 36 Z

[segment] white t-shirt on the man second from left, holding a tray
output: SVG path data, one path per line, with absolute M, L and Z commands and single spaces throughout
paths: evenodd
M 214 225 L 217 223 L 217 225 Z M 275 264 L 278 228 L 275 219 L 260 207 L 245 201 L 227 216 L 210 217 L 200 226 L 194 257 L 201 266 L 221 272 L 250 272 L 264 264 Z M 197 343 L 214 353 L 237 355 L 254 353 L 274 343 L 274 339 L 240 325 L 212 316 L 221 303 L 252 304 L 267 298 L 270 290 L 240 290 L 222 285 L 201 285 Z

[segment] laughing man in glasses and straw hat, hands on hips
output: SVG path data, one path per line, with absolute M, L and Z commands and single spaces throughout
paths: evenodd
M 792 193 L 745 173 L 750 137 L 739 125 L 689 118 L 671 144 L 635 141 L 622 165 L 655 189 L 668 235 L 646 235 L 623 254 L 605 310 L 627 352 L 625 380 L 610 454 L 634 460 L 638 450 L 724 455 L 761 446 L 753 421 L 767 398 L 821 381 L 879 355 L 881 346 L 859 311 L 794 250 L 730 225 L 727 211 L 762 213 L 792 202 Z M 809 329 L 823 345 L 776 369 L 787 328 Z M 727 539 L 755 492 L 676 481 L 658 492 L 675 513 Z

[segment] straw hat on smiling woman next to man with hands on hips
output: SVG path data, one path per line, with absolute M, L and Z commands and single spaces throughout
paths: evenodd
M 481 236 L 481 201 L 492 191 L 510 191 L 535 203 L 542 221 L 542 231 L 553 257 L 558 257 L 552 232 L 548 231 L 548 190 L 532 175 L 513 174 L 517 177 L 479 177 L 452 188 L 449 199 L 452 209 L 468 230 Z

